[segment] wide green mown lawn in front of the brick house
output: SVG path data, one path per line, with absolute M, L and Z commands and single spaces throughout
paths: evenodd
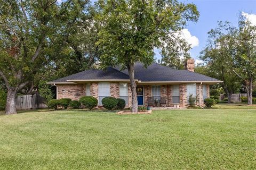
M 0 169 L 255 169 L 256 111 L 0 115 Z

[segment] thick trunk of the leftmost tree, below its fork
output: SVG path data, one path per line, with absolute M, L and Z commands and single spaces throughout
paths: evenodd
M 9 88 L 7 91 L 7 99 L 6 99 L 6 106 L 5 106 L 5 114 L 17 114 L 16 111 L 16 95 L 17 89 Z

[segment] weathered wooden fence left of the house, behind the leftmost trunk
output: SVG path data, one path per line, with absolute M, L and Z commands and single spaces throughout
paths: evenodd
M 47 106 L 43 100 L 43 97 L 38 94 L 18 96 L 16 98 L 16 108 L 17 110 L 46 108 Z

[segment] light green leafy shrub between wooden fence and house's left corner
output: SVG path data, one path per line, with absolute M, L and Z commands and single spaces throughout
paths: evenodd
M 39 95 L 44 98 L 45 103 L 48 103 L 53 98 L 53 92 L 51 90 L 51 85 L 46 84 L 46 81 L 40 80 L 38 83 Z

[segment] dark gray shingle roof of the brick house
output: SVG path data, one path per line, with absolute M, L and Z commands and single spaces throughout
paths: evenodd
M 220 80 L 207 77 L 206 75 L 187 71 L 175 70 L 157 63 L 143 67 L 141 63 L 134 65 L 135 79 L 142 82 L 220 82 Z M 128 80 L 127 70 L 120 70 L 119 67 L 108 67 L 107 70 L 86 70 L 52 81 L 51 83 L 67 82 L 67 80 Z

